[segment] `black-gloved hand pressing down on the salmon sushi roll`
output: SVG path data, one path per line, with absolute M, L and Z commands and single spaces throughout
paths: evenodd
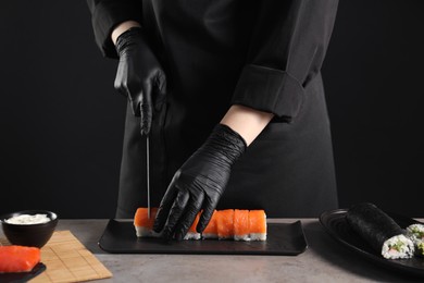
M 207 142 L 175 173 L 161 201 L 153 230 L 163 237 L 183 239 L 196 214 L 203 209 L 196 230 L 209 223 L 229 179 L 232 165 L 246 150 L 245 139 L 219 124 Z M 162 230 L 163 229 L 163 230 Z

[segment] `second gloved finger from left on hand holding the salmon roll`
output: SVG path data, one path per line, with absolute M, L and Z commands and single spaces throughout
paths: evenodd
M 178 189 L 178 194 L 170 210 L 170 214 L 167 216 L 167 221 L 162 231 L 162 235 L 164 238 L 171 239 L 174 236 L 175 229 L 178 224 L 179 219 L 184 214 L 189 197 L 190 196 L 187 190 Z

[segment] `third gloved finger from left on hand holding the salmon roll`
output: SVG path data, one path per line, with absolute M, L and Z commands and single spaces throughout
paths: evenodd
M 196 216 L 199 213 L 202 208 L 204 195 L 201 194 L 191 194 L 188 205 L 186 206 L 186 211 L 184 217 L 179 220 L 177 227 L 175 229 L 175 237 L 180 241 L 187 234 L 188 230 L 191 227 L 192 222 L 196 219 Z

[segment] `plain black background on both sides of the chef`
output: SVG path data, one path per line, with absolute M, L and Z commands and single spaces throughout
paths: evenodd
M 340 0 L 323 67 L 340 207 L 424 217 L 424 1 Z M 112 218 L 125 99 L 86 2 L 0 7 L 0 213 Z

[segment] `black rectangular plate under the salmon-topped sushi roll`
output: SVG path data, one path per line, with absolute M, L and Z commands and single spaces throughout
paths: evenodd
M 264 242 L 201 239 L 164 243 L 160 238 L 137 238 L 133 222 L 111 219 L 99 246 L 114 254 L 296 256 L 303 253 L 308 244 L 300 221 L 269 223 Z

